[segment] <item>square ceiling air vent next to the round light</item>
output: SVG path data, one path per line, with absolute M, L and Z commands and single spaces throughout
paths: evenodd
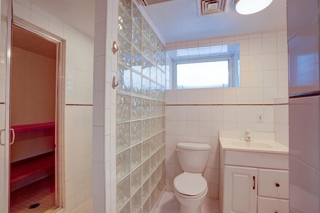
M 227 9 L 229 0 L 198 0 L 198 13 L 200 15 L 223 12 Z

